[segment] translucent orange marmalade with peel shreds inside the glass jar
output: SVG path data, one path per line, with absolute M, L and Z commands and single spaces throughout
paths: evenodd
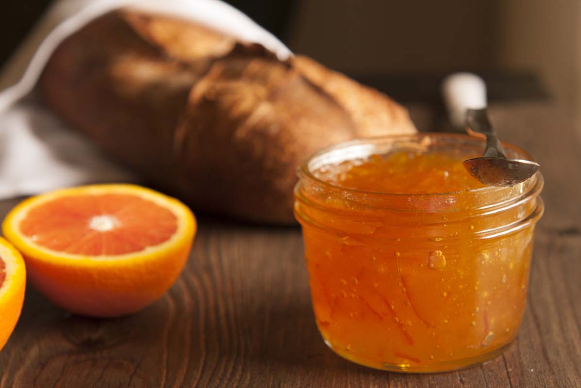
M 323 167 L 314 175 L 385 193 L 482 187 L 462 166 L 464 159 L 396 152 Z M 464 209 L 460 201 L 474 200 L 456 199 L 458 209 Z M 525 307 L 532 227 L 482 240 L 474 233 L 492 221 L 475 222 L 461 211 L 448 215 L 453 220 L 447 213 L 410 217 L 392 211 L 367 221 L 332 195 L 328 206 L 299 206 L 297 216 L 317 325 L 337 353 L 374 368 L 435 372 L 486 360 L 514 338 Z M 433 217 L 439 221 L 426 227 Z M 514 217 L 501 214 L 494 222 L 508 224 Z

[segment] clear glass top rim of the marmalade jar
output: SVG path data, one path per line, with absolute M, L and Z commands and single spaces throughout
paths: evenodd
M 503 187 L 503 186 L 484 186 L 482 188 L 476 188 L 476 189 L 468 189 L 468 190 L 453 191 L 453 192 L 440 192 L 440 193 L 386 193 L 386 192 L 365 191 L 365 190 L 360 190 L 360 189 L 346 188 L 344 186 L 340 186 L 340 185 L 332 184 L 331 182 L 324 181 L 323 179 L 316 177 L 310 168 L 310 164 L 313 163 L 313 161 L 316 161 L 318 158 L 324 157 L 325 155 L 329 155 L 330 153 L 333 153 L 333 152 L 337 152 L 339 155 L 340 150 L 345 150 L 349 147 L 364 146 L 364 145 L 368 145 L 372 142 L 377 142 L 377 141 L 392 141 L 392 142 L 408 141 L 409 142 L 408 144 L 415 143 L 421 148 L 426 148 L 428 145 L 431 144 L 432 139 L 457 139 L 458 141 L 479 142 L 479 143 L 482 143 L 482 149 L 484 149 L 485 144 L 486 144 L 485 139 L 477 138 L 475 136 L 470 136 L 467 134 L 452 134 L 452 133 L 447 133 L 447 132 L 418 132 L 416 134 L 394 134 L 394 135 L 382 135 L 382 136 L 372 136 L 372 137 L 367 137 L 367 138 L 358 138 L 358 139 L 353 139 L 350 141 L 345 141 L 345 142 L 337 143 L 335 145 L 331 145 L 331 146 L 322 148 L 322 149 L 318 150 L 317 152 L 311 154 L 309 157 L 304 159 L 302 161 L 302 163 L 299 164 L 299 167 L 297 168 L 297 175 L 299 175 L 299 178 L 301 177 L 301 175 L 304 175 L 309 179 L 313 179 L 313 181 L 317 182 L 317 184 L 321 184 L 321 185 L 323 185 L 327 188 L 333 189 L 335 191 L 353 193 L 354 195 L 372 195 L 372 196 L 382 196 L 382 197 L 391 197 L 391 196 L 393 196 L 393 197 L 412 197 L 412 198 L 414 198 L 414 197 L 415 198 L 439 197 L 439 196 L 453 196 L 453 195 L 459 195 L 459 194 L 463 194 L 463 193 L 480 194 L 480 193 L 489 193 L 489 192 L 501 192 L 501 191 L 505 191 L 507 189 L 510 189 L 510 188 Z M 532 157 L 532 155 L 530 155 L 528 152 L 526 152 L 525 150 L 523 150 L 515 145 L 512 145 L 510 143 L 505 143 L 505 142 L 502 142 L 502 145 L 508 154 L 513 153 L 516 156 L 518 156 L 518 159 L 535 161 L 535 159 Z M 372 153 L 367 154 L 367 156 L 370 156 L 370 155 L 372 155 Z M 347 155 L 347 156 L 349 156 L 349 155 Z M 361 155 L 361 156 L 364 156 L 364 155 Z M 361 156 L 359 156 L 359 157 L 361 157 Z M 512 155 L 509 155 L 509 156 L 515 157 Z M 353 160 L 353 159 L 355 159 L 355 158 L 345 157 L 341 161 Z M 338 160 L 339 159 L 334 160 L 335 163 Z M 330 164 L 330 163 L 327 163 L 327 164 Z M 527 179 L 522 184 L 524 184 L 526 182 L 536 182 L 539 180 L 540 175 L 541 175 L 540 172 L 537 171 L 537 173 L 535 173 L 532 177 Z

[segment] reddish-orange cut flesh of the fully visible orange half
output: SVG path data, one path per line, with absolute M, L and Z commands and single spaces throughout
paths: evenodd
M 177 231 L 177 217 L 138 196 L 77 195 L 34 207 L 20 222 L 20 231 L 57 252 L 113 256 L 167 241 Z

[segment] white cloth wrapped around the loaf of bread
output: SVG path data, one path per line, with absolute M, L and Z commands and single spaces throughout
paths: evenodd
M 220 0 L 58 1 L 0 74 L 0 199 L 78 184 L 135 181 L 134 175 L 66 128 L 34 92 L 42 69 L 64 38 L 124 6 L 213 27 L 263 44 L 281 59 L 292 55 L 274 35 Z

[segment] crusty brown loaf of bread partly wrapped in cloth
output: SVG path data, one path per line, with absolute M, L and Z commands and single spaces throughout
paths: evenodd
M 130 10 L 67 38 L 40 88 L 71 128 L 150 184 L 253 222 L 294 222 L 295 170 L 316 150 L 415 131 L 403 107 L 314 60 Z

